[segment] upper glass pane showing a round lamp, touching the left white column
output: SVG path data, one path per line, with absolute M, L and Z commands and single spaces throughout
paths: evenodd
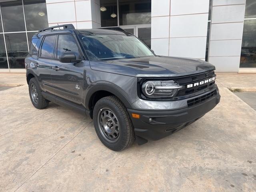
M 28 31 L 48 27 L 45 0 L 24 0 L 24 12 Z

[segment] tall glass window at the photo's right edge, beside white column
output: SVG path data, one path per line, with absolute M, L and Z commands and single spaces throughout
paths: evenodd
M 240 68 L 256 68 L 256 1 L 246 0 Z

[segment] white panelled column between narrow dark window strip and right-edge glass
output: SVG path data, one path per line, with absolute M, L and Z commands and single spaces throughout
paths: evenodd
M 238 72 L 245 0 L 213 0 L 209 62 L 217 72 Z

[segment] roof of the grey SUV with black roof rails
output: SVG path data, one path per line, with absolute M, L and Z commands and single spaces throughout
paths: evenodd
M 60 29 L 63 27 L 63 29 Z M 56 29 L 55 29 L 56 28 Z M 113 34 L 113 35 L 132 35 L 121 28 L 100 28 L 100 29 L 75 29 L 72 24 L 60 25 L 60 26 L 52 26 L 49 28 L 45 28 L 43 30 L 39 30 L 38 33 L 35 34 L 38 38 L 43 35 L 48 34 L 58 34 L 58 33 L 71 33 L 71 34 Z

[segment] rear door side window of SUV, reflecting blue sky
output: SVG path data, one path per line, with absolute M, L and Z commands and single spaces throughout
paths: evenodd
M 53 58 L 55 35 L 46 36 L 41 48 L 41 57 Z

